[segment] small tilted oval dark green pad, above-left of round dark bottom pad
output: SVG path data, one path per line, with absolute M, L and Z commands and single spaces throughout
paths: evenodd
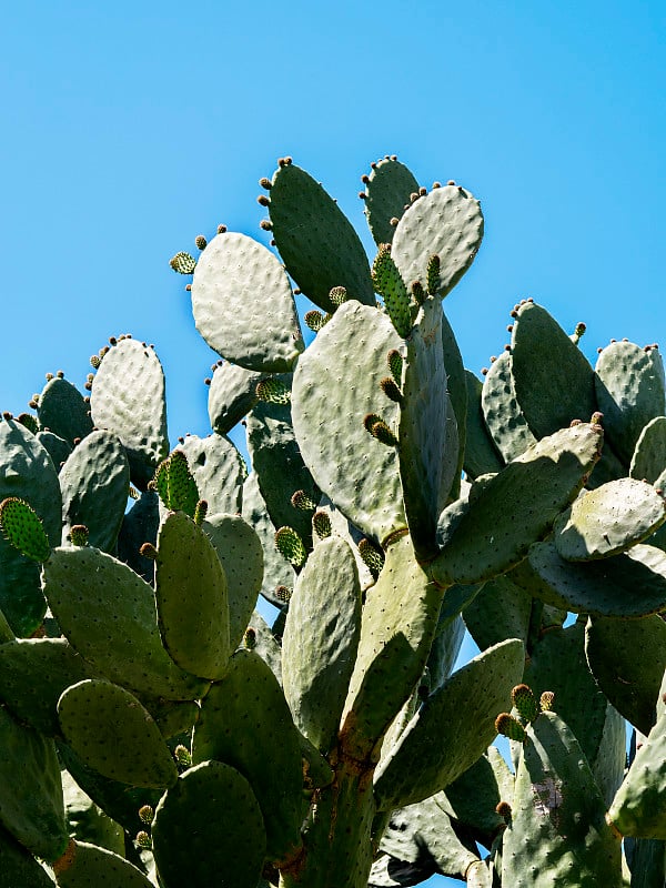
M 88 679 L 58 702 L 65 740 L 85 764 L 111 780 L 165 788 L 178 769 L 152 716 L 128 690 Z

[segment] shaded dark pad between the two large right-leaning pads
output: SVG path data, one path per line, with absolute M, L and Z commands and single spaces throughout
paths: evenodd
M 480 650 L 505 638 L 527 643 L 532 597 L 508 576 L 485 583 L 463 610 L 463 619 Z

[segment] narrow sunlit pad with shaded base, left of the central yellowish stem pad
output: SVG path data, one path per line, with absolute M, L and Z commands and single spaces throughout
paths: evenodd
M 296 727 L 324 753 L 337 734 L 360 633 L 354 554 L 344 539 L 330 536 L 299 576 L 282 638 L 284 696 Z

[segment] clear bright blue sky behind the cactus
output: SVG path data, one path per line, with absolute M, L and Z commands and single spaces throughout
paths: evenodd
M 526 295 L 586 321 L 591 356 L 659 341 L 665 73 L 663 0 L 6 4 L 0 408 L 46 371 L 82 384 L 132 332 L 165 366 L 172 441 L 206 434 L 215 356 L 168 260 L 220 222 L 263 239 L 258 180 L 285 153 L 363 232 L 385 153 L 482 200 L 446 301 L 471 369 Z

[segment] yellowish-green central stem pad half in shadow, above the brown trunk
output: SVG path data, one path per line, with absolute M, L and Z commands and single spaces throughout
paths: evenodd
M 442 589 L 416 563 L 410 537 L 402 536 L 389 547 L 363 607 L 341 729 L 343 748 L 354 758 L 379 755 L 385 731 L 418 684 L 441 602 Z

